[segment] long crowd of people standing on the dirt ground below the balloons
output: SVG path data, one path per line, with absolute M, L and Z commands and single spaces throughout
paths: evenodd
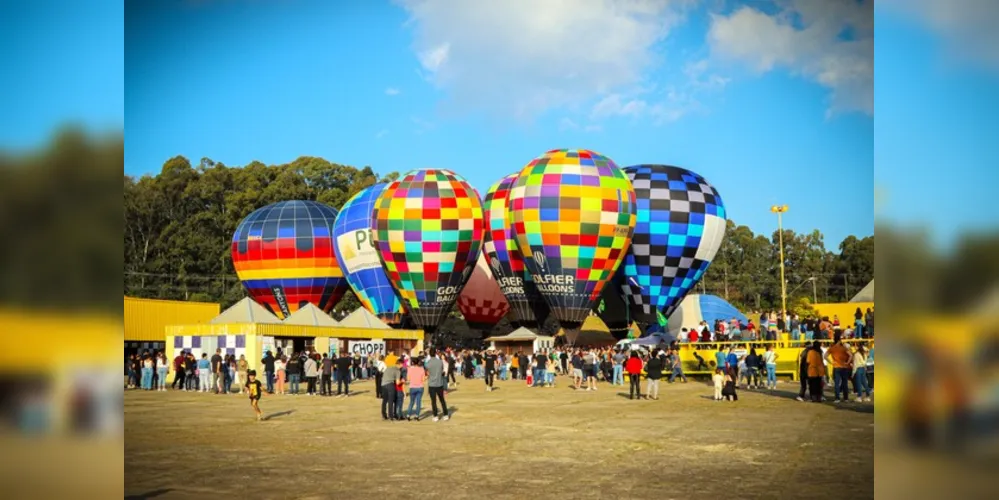
M 723 330 L 724 331 L 724 330 Z M 722 333 L 721 335 L 725 335 Z M 722 337 L 724 338 L 724 337 Z M 849 382 L 853 382 L 856 402 L 869 402 L 872 391 L 867 378 L 868 352 L 862 343 L 855 348 L 843 343 L 842 332 L 833 333 L 833 343 L 823 351 L 821 342 L 813 340 L 801 351 L 797 361 L 801 391 L 797 397 L 805 401 L 823 401 L 827 363 L 832 365 L 835 402 L 849 401 Z M 695 350 L 695 371 L 711 374 L 713 399 L 738 401 L 738 390 L 777 388 L 779 355 L 773 344 L 757 350 L 736 350 L 727 344 L 715 353 L 713 362 L 706 361 Z M 258 401 L 267 394 L 326 397 L 349 397 L 350 386 L 364 380 L 374 381 L 375 397 L 381 400 L 381 416 L 391 421 L 419 421 L 422 418 L 423 396 L 429 394 L 433 420 L 449 420 L 446 395 L 458 385 L 460 376 L 466 381 L 483 381 L 486 391 L 495 389 L 496 380 L 521 380 L 532 388 L 553 388 L 562 377 L 577 391 L 596 391 L 598 381 L 611 386 L 624 386 L 628 379 L 628 397 L 632 400 L 658 400 L 660 382 L 686 383 L 679 353 L 679 344 L 660 345 L 651 350 L 621 347 L 556 347 L 539 352 L 505 353 L 497 350 L 437 350 L 414 354 L 329 355 L 307 351 L 277 354 L 270 351 L 260 360 L 261 380 L 249 369 L 245 356 L 223 355 L 216 350 L 211 357 L 200 358 L 184 351 L 172 361 L 164 353 L 132 355 L 126 362 L 129 388 L 165 391 L 167 375 L 173 371 L 172 389 L 202 393 L 249 394 L 258 418 Z M 700 351 L 703 353 L 704 351 Z M 642 379 L 645 391 L 642 391 Z M 302 384 L 305 384 L 304 392 Z M 336 385 L 336 392 L 333 385 Z M 405 398 L 409 406 L 405 407 Z M 439 403 L 439 406 L 438 406 Z

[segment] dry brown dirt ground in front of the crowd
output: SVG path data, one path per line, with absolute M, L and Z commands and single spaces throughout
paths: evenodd
M 263 422 L 244 396 L 126 391 L 126 497 L 874 497 L 873 404 L 797 402 L 796 383 L 729 403 L 694 381 L 659 401 L 461 381 L 437 423 L 382 421 L 373 386 L 265 395 Z

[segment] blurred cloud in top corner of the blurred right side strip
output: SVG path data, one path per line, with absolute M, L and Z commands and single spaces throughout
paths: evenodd
M 890 12 L 915 18 L 943 40 L 948 57 L 999 70 L 999 2 L 993 0 L 884 0 Z

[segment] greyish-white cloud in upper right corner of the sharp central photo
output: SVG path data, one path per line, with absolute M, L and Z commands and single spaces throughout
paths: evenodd
M 766 14 L 711 16 L 712 54 L 758 72 L 781 67 L 831 90 L 830 113 L 874 112 L 874 11 L 865 0 L 788 0 Z

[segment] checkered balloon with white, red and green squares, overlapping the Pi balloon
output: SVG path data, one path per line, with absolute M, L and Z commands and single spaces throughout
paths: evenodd
M 414 170 L 385 188 L 372 225 L 389 280 L 413 321 L 434 333 L 479 258 L 479 195 L 451 171 Z

